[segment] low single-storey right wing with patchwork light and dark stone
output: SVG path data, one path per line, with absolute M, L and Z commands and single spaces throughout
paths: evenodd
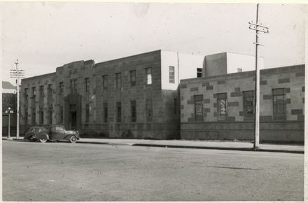
M 181 80 L 181 139 L 252 140 L 255 71 Z M 304 65 L 260 71 L 260 140 L 304 141 Z

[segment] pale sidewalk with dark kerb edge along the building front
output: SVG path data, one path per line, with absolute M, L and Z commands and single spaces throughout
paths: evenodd
M 7 139 L 3 137 L 2 139 Z M 20 137 L 23 139 L 23 137 Z M 16 139 L 14 139 L 16 140 Z M 151 146 L 169 148 L 202 148 L 233 151 L 266 151 L 282 153 L 304 153 L 304 146 L 291 144 L 260 144 L 253 149 L 253 143 L 244 141 L 191 141 L 191 140 L 148 140 L 148 139 L 93 139 L 80 138 L 77 143 L 109 144 L 130 146 Z

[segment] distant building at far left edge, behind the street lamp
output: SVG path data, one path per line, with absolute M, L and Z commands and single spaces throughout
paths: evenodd
M 11 133 L 16 129 L 16 87 L 8 81 L 2 81 L 2 133 L 8 134 L 8 108 L 14 113 L 10 115 L 10 130 Z

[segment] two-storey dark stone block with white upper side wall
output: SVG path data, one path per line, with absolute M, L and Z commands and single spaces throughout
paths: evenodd
M 22 80 L 21 125 L 62 124 L 83 137 L 179 139 L 179 81 L 204 57 L 168 50 L 78 61 Z

